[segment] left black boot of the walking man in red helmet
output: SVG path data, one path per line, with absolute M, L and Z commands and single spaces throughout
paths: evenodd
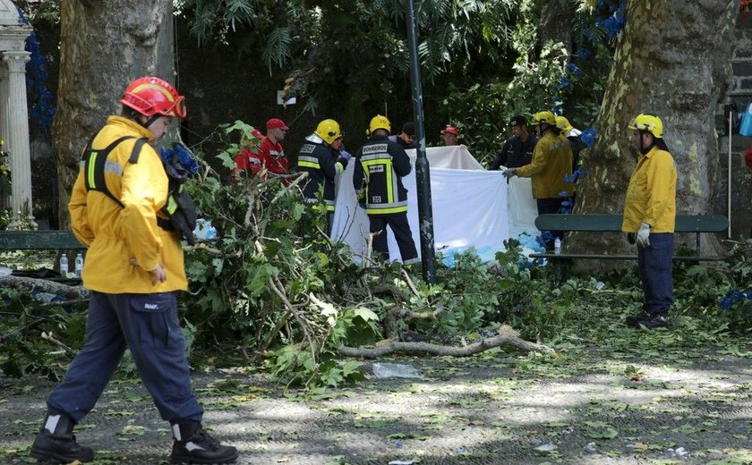
M 39 461 L 71 463 L 93 461 L 94 451 L 76 443 L 73 419 L 65 414 L 45 415 L 44 423 L 31 446 L 31 457 Z

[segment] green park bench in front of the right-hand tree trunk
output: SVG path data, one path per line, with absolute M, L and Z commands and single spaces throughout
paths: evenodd
M 535 227 L 540 231 L 564 232 L 621 232 L 621 215 L 540 215 L 535 218 Z M 700 234 L 703 232 L 723 232 L 729 228 L 729 219 L 720 215 L 677 215 L 675 232 L 695 232 L 696 243 L 691 255 L 674 255 L 678 262 L 719 261 L 723 257 L 704 257 L 700 253 Z M 566 235 L 565 239 L 566 241 Z M 626 241 L 626 239 L 625 239 Z M 557 277 L 563 276 L 563 264 L 567 260 L 637 260 L 637 254 L 610 255 L 605 253 L 568 253 L 565 242 L 561 244 L 561 253 L 554 252 L 530 254 L 530 258 L 546 258 L 556 265 Z

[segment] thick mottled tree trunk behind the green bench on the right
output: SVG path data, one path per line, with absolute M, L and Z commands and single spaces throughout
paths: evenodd
M 679 174 L 677 213 L 713 213 L 720 169 L 715 111 L 731 82 L 737 6 L 729 0 L 628 3 L 626 26 L 594 125 L 598 139 L 585 152 L 588 174 L 577 194 L 578 213 L 623 211 L 637 162 L 627 125 L 640 113 L 656 114 L 663 121 L 663 138 Z M 715 236 L 705 236 L 705 253 L 720 249 Z M 586 245 L 590 252 L 634 248 L 622 238 L 592 232 L 574 234 L 570 244 L 572 250 Z

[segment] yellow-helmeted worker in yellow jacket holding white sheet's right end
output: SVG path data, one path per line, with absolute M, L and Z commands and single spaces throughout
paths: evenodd
M 572 148 L 567 139 L 560 136 L 556 126 L 556 116 L 549 111 L 534 114 L 531 125 L 536 126 L 539 140 L 535 144 L 533 160 L 528 165 L 509 168 L 504 176 L 531 178 L 533 198 L 538 204 L 538 215 L 560 213 L 562 202 L 574 204 L 575 186 L 566 179 L 572 175 Z M 555 238 L 562 238 L 563 232 L 551 231 L 544 235 L 547 249 L 553 248 Z

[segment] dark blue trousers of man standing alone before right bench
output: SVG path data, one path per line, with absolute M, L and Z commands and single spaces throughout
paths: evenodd
M 650 245 L 637 247 L 637 266 L 640 271 L 645 303 L 648 313 L 665 316 L 673 303 L 673 233 L 650 234 Z

